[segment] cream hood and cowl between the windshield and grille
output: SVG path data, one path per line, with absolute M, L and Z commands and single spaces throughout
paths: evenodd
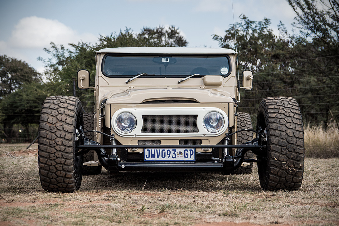
M 191 85 L 181 85 L 182 83 L 174 85 L 178 83 L 178 78 L 143 78 L 142 83 L 146 84 L 132 85 L 123 84 L 126 78 L 102 78 L 100 76 L 99 99 L 101 101 L 107 99 L 107 104 L 143 103 L 159 99 L 184 99 L 199 103 L 233 103 L 232 97 L 235 95 L 233 90 L 234 77 L 224 78 L 222 87 L 203 86 L 201 85 L 201 78 L 191 78 L 191 80 Z M 109 81 L 116 85 L 109 85 Z M 161 84 L 164 81 L 167 84 Z

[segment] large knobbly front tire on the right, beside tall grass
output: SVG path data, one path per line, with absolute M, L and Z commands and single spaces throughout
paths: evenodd
M 304 131 L 300 108 L 291 97 L 264 98 L 258 110 L 257 130 L 266 131 L 266 149 L 259 155 L 260 185 L 266 190 L 297 190 L 304 172 Z M 260 136 L 259 136 L 260 138 Z

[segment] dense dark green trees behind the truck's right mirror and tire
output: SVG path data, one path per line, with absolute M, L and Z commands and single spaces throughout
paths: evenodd
M 290 96 L 299 102 L 306 123 L 327 124 L 338 119 L 339 53 L 338 43 L 331 41 L 337 38 L 326 38 L 327 42 L 319 38 L 338 33 L 325 29 L 322 36 L 311 35 L 304 26 L 301 35 L 288 34 L 280 23 L 280 35 L 275 36 L 269 19 L 241 19 L 225 31 L 225 36 L 214 36 L 221 47 L 235 49 L 236 35 L 240 72 L 254 72 L 254 88 L 241 90 L 241 100 L 246 105 L 240 104 L 239 110 L 250 112 L 255 118 L 262 98 Z

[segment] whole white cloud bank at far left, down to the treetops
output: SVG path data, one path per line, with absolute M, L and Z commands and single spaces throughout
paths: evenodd
M 8 40 L 0 40 L 0 55 L 23 60 L 36 68 L 44 70 L 43 63 L 37 61 L 39 56 L 47 58 L 43 48 L 49 48 L 51 42 L 57 45 L 78 43 L 79 41 L 94 43 L 97 36 L 90 33 L 79 34 L 65 24 L 36 16 L 22 18 L 15 25 L 12 36 Z

